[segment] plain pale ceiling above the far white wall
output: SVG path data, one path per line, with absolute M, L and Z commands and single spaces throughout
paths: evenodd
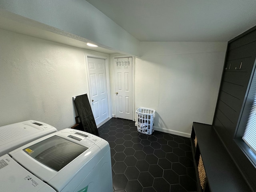
M 226 42 L 256 25 L 256 0 L 87 0 L 140 41 Z

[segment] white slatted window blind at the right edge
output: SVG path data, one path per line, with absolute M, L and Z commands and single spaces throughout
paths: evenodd
M 254 99 L 251 103 L 250 115 L 248 117 L 246 129 L 242 139 L 256 154 L 256 83 L 251 84 L 250 91 L 251 90 L 253 92 Z

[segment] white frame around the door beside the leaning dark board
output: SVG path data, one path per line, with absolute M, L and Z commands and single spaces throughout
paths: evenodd
M 106 86 L 107 86 L 107 96 L 108 96 L 108 118 L 106 120 L 104 120 L 103 122 L 101 122 L 100 124 L 97 125 L 97 128 L 99 128 L 100 126 L 102 126 L 105 122 L 107 122 L 108 120 L 110 120 L 110 118 L 112 118 L 112 102 L 111 102 L 111 95 L 110 95 L 110 73 L 109 73 L 109 64 L 108 64 L 108 57 L 106 56 L 101 56 L 101 55 L 94 55 L 94 54 L 88 54 L 85 53 L 84 54 L 84 60 L 85 60 L 85 66 L 86 66 L 86 76 L 87 76 L 87 87 L 88 87 L 88 99 L 90 102 L 90 105 L 92 106 L 92 102 L 90 99 L 90 78 L 89 78 L 89 65 L 88 65 L 88 57 L 92 57 L 92 58 L 98 58 L 98 59 L 104 59 L 105 60 L 105 68 L 106 68 Z

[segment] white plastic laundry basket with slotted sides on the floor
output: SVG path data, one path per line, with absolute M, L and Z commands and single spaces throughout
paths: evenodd
M 148 109 L 148 108 L 138 108 L 136 110 L 137 119 L 138 119 L 138 126 L 137 130 L 140 133 L 151 135 L 154 132 L 154 117 L 155 117 L 155 110 Z

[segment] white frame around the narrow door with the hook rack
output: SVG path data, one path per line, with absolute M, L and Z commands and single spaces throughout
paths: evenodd
M 115 88 L 115 78 L 114 78 L 114 58 L 127 58 L 132 57 L 132 120 L 135 119 L 135 109 L 134 109 L 134 68 L 136 63 L 136 57 L 132 55 L 112 55 L 112 74 L 113 74 L 113 89 Z M 113 93 L 115 93 L 116 90 L 113 90 Z M 116 117 L 116 97 L 115 94 L 113 95 L 113 114 L 112 117 Z

